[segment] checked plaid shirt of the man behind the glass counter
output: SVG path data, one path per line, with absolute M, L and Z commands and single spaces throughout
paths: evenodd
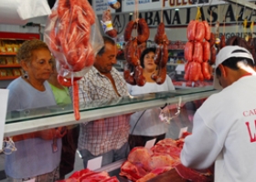
M 111 74 L 119 95 L 129 95 L 123 76 L 114 67 Z M 80 79 L 79 85 L 80 103 L 98 101 L 98 103 L 104 105 L 111 103 L 112 98 L 119 97 L 112 86 L 111 80 L 102 76 L 94 66 Z M 121 148 L 128 140 L 129 120 L 130 115 L 123 115 L 81 123 L 79 149 L 87 149 L 92 155 L 98 156 L 112 149 Z

